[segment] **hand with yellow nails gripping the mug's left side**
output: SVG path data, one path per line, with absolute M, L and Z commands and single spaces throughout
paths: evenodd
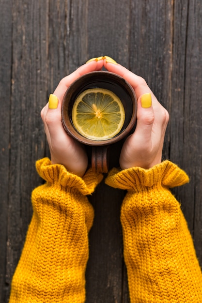
M 102 69 L 103 59 L 92 60 L 80 66 L 74 73 L 64 77 L 49 102 L 41 111 L 47 141 L 50 149 L 51 163 L 62 164 L 66 169 L 82 177 L 88 166 L 88 158 L 83 146 L 68 136 L 62 125 L 61 106 L 65 91 L 78 77 Z

